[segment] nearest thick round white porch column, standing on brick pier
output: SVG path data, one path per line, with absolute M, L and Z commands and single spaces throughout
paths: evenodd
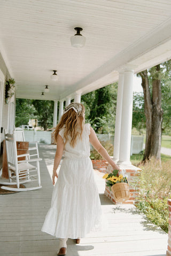
M 118 164 L 130 165 L 131 128 L 133 118 L 133 79 L 134 70 L 124 71 L 120 149 Z

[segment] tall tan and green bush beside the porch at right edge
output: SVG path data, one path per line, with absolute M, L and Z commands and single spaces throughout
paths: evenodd
M 161 162 L 152 158 L 146 162 L 138 176 L 139 196 L 136 206 L 151 222 L 168 232 L 167 199 L 171 198 L 171 161 Z

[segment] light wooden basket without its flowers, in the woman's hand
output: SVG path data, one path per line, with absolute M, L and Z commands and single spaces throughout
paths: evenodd
M 128 183 L 116 183 L 111 187 L 111 190 L 113 192 L 114 200 L 117 202 L 127 201 L 130 197 Z

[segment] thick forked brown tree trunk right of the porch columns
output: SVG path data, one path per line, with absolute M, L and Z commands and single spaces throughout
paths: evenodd
M 144 92 L 144 110 L 146 117 L 146 142 L 143 161 L 151 157 L 160 159 L 161 151 L 161 82 L 159 79 L 160 65 L 156 66 L 155 77 L 152 79 L 152 97 L 150 95 L 149 79 L 147 70 L 139 73 L 142 77 Z

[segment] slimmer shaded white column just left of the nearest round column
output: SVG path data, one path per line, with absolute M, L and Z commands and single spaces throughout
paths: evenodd
M 114 130 L 113 160 L 115 162 L 119 161 L 123 81 L 124 81 L 124 75 L 123 75 L 123 72 L 120 72 L 119 81 L 118 81 L 118 94 L 117 94 L 117 103 L 116 103 L 115 130 Z

